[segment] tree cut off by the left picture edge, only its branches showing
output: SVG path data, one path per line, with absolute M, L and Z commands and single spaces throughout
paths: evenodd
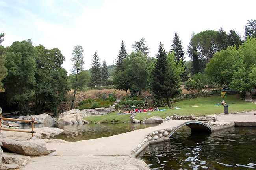
M 4 41 L 2 38 L 4 37 L 4 33 L 0 35 L 0 92 L 4 92 L 5 89 L 3 88 L 3 83 L 1 82 L 6 76 L 7 76 L 7 70 L 4 67 L 5 65 L 5 48 L 1 45 L 1 43 Z

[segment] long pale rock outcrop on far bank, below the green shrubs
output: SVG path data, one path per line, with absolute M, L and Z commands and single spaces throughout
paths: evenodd
M 107 115 L 112 111 L 116 111 L 117 109 L 109 107 L 109 108 L 96 108 L 96 109 L 83 109 L 80 111 L 79 109 L 72 109 L 70 111 L 63 112 L 59 115 L 59 119 L 57 121 L 58 124 L 85 124 L 89 123 L 86 120 L 83 120 L 85 117 L 89 116 L 100 116 Z

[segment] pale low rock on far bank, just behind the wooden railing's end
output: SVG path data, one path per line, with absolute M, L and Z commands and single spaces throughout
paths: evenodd
M 26 116 L 20 116 L 18 119 L 23 119 L 23 120 L 32 120 L 32 118 L 35 119 L 35 121 L 37 121 L 38 123 L 49 123 L 49 122 L 54 122 L 55 120 L 52 118 L 52 116 L 43 113 L 40 115 L 26 115 Z M 20 122 L 18 121 L 18 123 L 22 124 L 22 123 L 26 123 L 26 122 Z

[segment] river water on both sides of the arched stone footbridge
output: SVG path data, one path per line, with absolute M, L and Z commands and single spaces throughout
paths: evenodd
M 35 124 L 58 127 L 63 133 L 48 139 L 69 142 L 107 137 L 156 126 L 157 124 Z M 30 128 L 23 124 L 22 128 Z M 256 169 L 256 128 L 231 127 L 209 133 L 191 133 L 189 127 L 178 129 L 165 143 L 148 146 L 138 155 L 151 169 L 239 170 Z

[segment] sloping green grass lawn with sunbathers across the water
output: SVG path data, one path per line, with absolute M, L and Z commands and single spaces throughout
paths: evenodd
M 166 116 L 172 116 L 174 114 L 180 116 L 189 116 L 193 114 L 194 116 L 200 115 L 213 115 L 223 113 L 223 105 L 215 106 L 215 104 L 220 103 L 222 98 L 220 96 L 210 96 L 210 97 L 199 97 L 195 99 L 184 100 L 180 102 L 173 103 L 173 107 L 180 107 L 181 109 L 168 109 L 167 107 L 162 107 L 160 109 L 166 109 L 164 111 L 155 111 L 148 113 L 137 113 L 135 119 L 142 120 L 143 118 L 150 118 L 152 116 L 160 116 L 165 118 Z M 238 112 L 238 111 L 250 111 L 256 110 L 256 104 L 245 102 L 240 100 L 239 95 L 230 95 L 226 97 L 226 104 L 229 104 L 228 112 Z M 198 107 L 191 107 L 197 105 Z M 117 115 L 117 112 L 113 112 L 109 115 L 88 117 L 85 120 L 89 122 L 111 122 L 113 120 L 118 122 L 130 120 L 130 115 Z

